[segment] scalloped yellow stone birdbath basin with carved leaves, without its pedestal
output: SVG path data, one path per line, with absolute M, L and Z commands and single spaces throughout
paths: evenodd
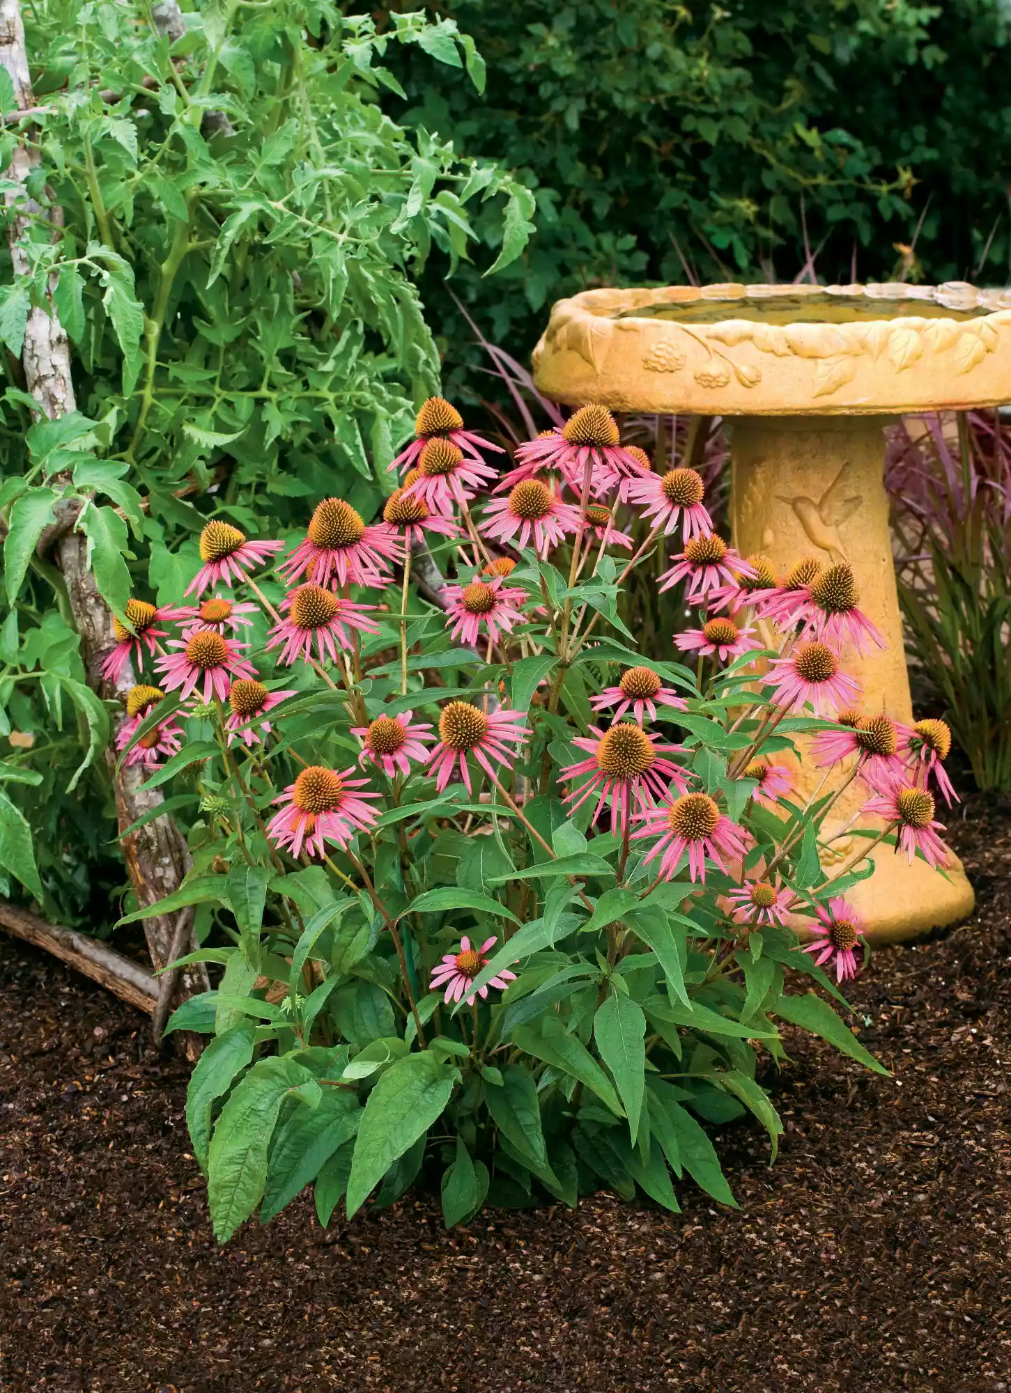
M 578 405 L 696 415 L 898 415 L 1011 400 L 1011 291 L 667 286 L 560 299 L 538 389 Z

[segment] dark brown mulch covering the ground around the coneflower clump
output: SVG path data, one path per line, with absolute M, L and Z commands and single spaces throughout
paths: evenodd
M 185 1068 L 3 940 L 0 1387 L 1003 1393 L 1011 1387 L 1011 820 L 955 829 L 979 910 L 881 950 L 861 1073 L 798 1038 L 781 1159 L 724 1134 L 741 1209 L 607 1195 L 444 1233 L 411 1198 L 329 1233 L 302 1198 L 216 1248 Z

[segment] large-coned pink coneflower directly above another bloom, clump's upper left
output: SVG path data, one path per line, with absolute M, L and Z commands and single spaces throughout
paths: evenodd
M 390 579 L 387 561 L 401 561 L 404 547 L 393 528 L 366 527 L 362 515 L 344 499 L 323 499 L 306 528 L 306 535 L 288 552 L 279 574 L 291 584 L 305 574 L 316 585 L 334 577 L 338 585 L 373 585 Z

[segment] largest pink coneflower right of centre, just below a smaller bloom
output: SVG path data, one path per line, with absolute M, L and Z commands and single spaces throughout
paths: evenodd
M 631 720 L 616 722 L 607 731 L 590 726 L 590 731 L 595 737 L 592 740 L 586 736 L 572 740 L 590 758 L 560 770 L 563 779 L 589 775 L 585 783 L 572 788 L 563 800 L 572 805 L 572 812 L 599 791 L 593 818 L 596 819 L 604 802 L 610 804 L 611 832 L 621 829 L 624 836 L 634 807 L 641 811 L 652 808 L 656 798 L 664 797 L 668 783 L 678 790 L 688 787 L 692 775 L 673 759 L 661 758 L 681 754 L 684 745 L 657 744 L 659 736 L 648 734 Z

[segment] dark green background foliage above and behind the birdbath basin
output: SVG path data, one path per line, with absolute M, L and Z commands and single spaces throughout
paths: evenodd
M 454 279 L 517 357 L 560 295 L 685 281 L 675 240 L 700 280 L 792 280 L 802 209 L 822 280 L 848 281 L 854 254 L 858 279 L 890 279 L 894 244 L 926 209 L 915 276 L 1004 281 L 1003 0 L 455 0 L 448 13 L 487 63 L 485 96 L 453 72 L 433 84 L 409 54 L 398 74 L 409 121 L 535 191 L 524 259 L 493 283 Z M 423 298 L 439 333 L 451 302 L 434 277 Z M 453 336 L 447 347 L 457 362 Z

